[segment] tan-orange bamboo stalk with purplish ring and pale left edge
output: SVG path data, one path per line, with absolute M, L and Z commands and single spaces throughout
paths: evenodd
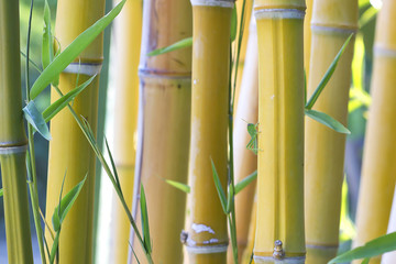
M 147 53 L 193 34 L 191 6 L 184 0 L 145 1 L 139 76 L 139 146 L 133 210 L 140 217 L 144 186 L 155 263 L 182 263 L 180 232 L 186 194 L 165 180 L 187 184 L 191 101 L 191 48 L 148 57 Z M 133 243 L 139 258 L 144 256 Z M 132 252 L 130 262 L 134 262 Z

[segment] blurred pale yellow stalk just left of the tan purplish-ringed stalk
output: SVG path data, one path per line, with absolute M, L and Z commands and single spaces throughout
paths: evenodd
M 117 4 L 119 1 L 114 1 Z M 143 2 L 127 1 L 114 20 L 112 44 L 116 45 L 113 79 L 114 106 L 114 163 L 122 193 L 132 210 L 133 178 L 136 151 L 140 46 L 142 35 Z M 112 195 L 109 262 L 127 263 L 129 254 L 130 221 L 116 193 Z

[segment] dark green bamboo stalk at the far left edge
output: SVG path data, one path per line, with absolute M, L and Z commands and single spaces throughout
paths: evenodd
M 0 1 L 0 164 L 9 263 L 33 263 L 23 128 L 19 1 Z

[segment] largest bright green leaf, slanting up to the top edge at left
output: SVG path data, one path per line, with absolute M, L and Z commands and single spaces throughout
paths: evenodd
M 34 81 L 30 91 L 31 98 L 36 98 L 45 87 L 59 75 L 120 13 L 127 0 L 122 0 L 108 14 L 79 34 L 54 61 L 43 70 Z

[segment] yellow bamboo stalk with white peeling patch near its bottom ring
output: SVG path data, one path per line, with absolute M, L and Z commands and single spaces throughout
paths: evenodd
M 193 102 L 189 156 L 189 263 L 227 262 L 227 219 L 212 177 L 224 190 L 228 164 L 230 24 L 234 2 L 193 0 Z

